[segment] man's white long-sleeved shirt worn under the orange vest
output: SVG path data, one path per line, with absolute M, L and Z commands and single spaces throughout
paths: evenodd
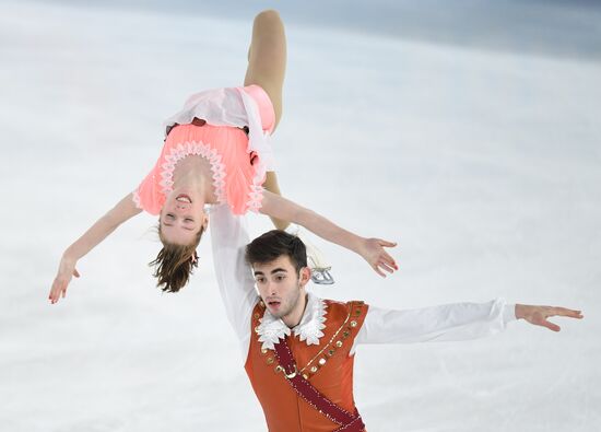
M 245 247 L 249 243 L 245 217 L 233 215 L 227 206 L 214 206 L 211 210 L 211 242 L 220 292 L 246 360 L 251 336 L 250 315 L 259 297 L 252 272 L 244 257 Z M 304 327 L 315 328 L 316 326 L 305 324 L 307 320 L 323 317 L 319 313 L 319 304 L 316 303 L 319 301 L 309 294 L 308 302 L 316 304 L 316 307 L 308 307 L 308 304 L 299 325 L 292 329 L 294 334 L 303 334 Z M 474 339 L 503 331 L 515 319 L 515 305 L 506 304 L 503 299 L 486 303 L 453 303 L 404 311 L 369 306 L 351 354 L 361 343 Z M 281 328 L 285 326 L 281 319 L 271 319 L 270 325 Z M 311 340 L 310 336 L 307 343 Z

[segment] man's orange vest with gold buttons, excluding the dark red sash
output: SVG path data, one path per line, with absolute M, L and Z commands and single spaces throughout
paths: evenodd
M 294 332 L 287 343 L 298 371 L 333 404 L 355 412 L 353 399 L 353 361 L 349 357 L 363 325 L 368 306 L 363 302 L 340 303 L 325 300 L 326 328 L 319 345 L 307 346 Z M 291 387 L 281 372 L 273 350 L 261 349 L 257 328 L 264 314 L 259 302 L 252 311 L 251 337 L 245 370 L 259 398 L 270 432 L 326 432 L 339 425 L 321 415 Z

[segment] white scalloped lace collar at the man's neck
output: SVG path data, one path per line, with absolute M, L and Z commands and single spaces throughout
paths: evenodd
M 294 336 L 298 336 L 300 341 L 306 340 L 307 346 L 319 345 L 319 338 L 323 337 L 321 331 L 326 328 L 326 302 L 313 293 L 307 293 L 307 304 L 300 323 L 292 329 Z M 291 335 L 291 328 L 281 318 L 275 318 L 266 308 L 263 317 L 259 319 L 257 328 L 259 342 L 262 342 L 263 349 L 273 350 L 274 343 Z

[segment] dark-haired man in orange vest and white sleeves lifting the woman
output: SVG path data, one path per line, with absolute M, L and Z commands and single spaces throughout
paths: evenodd
M 360 343 L 473 339 L 516 319 L 558 331 L 546 318 L 582 317 L 502 299 L 412 311 L 322 300 L 305 290 L 310 269 L 298 237 L 274 230 L 247 245 L 243 217 L 226 206 L 213 211 L 217 283 L 271 432 L 365 431 L 353 399 Z

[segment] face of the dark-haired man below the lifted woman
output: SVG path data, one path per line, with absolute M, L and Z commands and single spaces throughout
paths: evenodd
M 310 278 L 308 268 L 297 273 L 290 257 L 282 255 L 271 262 L 254 264 L 252 269 L 259 295 L 271 315 L 276 318 L 302 315 L 299 308 L 304 308 L 304 302 L 299 300 Z

